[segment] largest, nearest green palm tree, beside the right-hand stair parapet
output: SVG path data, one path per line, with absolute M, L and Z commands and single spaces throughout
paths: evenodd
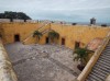
M 74 58 L 74 61 L 80 61 L 80 65 L 77 66 L 79 70 L 82 70 L 87 63 L 87 57 L 89 54 L 94 53 L 92 50 L 88 50 L 87 48 L 76 48 L 74 54 L 77 56 Z

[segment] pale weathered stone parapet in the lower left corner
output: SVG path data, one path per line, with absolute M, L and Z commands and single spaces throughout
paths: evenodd
M 18 81 L 8 54 L 0 39 L 0 81 Z

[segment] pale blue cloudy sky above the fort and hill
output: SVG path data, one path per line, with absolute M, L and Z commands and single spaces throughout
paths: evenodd
M 33 20 L 110 23 L 110 0 L 0 0 L 0 13 L 24 12 Z

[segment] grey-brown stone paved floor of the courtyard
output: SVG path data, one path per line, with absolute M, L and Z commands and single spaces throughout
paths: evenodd
M 8 44 L 19 81 L 74 81 L 80 73 L 73 50 L 58 45 Z

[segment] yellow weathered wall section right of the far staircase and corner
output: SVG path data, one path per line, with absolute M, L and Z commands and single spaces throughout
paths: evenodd
M 85 46 L 96 37 L 106 37 L 108 32 L 110 32 L 110 27 L 61 24 L 52 24 L 52 30 L 58 32 L 61 38 L 64 37 L 66 39 L 66 47 L 70 48 L 74 48 L 75 42 L 80 42 L 81 46 Z

